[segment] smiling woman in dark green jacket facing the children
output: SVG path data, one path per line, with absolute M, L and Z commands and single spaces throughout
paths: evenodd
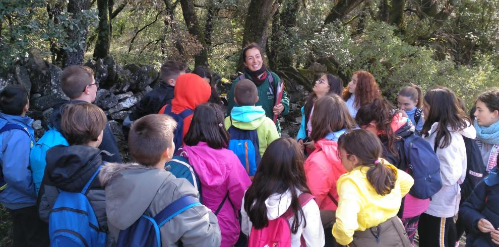
M 241 79 L 249 79 L 255 83 L 258 88 L 258 102 L 256 106 L 262 106 L 265 110 L 265 115 L 270 119 L 274 115 L 286 115 L 289 112 L 289 99 L 286 92 L 283 93 L 281 102 L 276 103 L 277 86 L 281 79 L 279 76 L 267 69 L 264 61 L 264 52 L 256 43 L 251 43 L 242 49 L 242 63 L 244 64 L 244 74 L 237 77 L 232 82 L 232 87 L 228 95 L 227 115 L 234 106 L 239 106 L 234 102 L 234 89 L 236 84 Z M 281 125 L 279 121 L 276 122 L 277 132 L 281 134 Z

